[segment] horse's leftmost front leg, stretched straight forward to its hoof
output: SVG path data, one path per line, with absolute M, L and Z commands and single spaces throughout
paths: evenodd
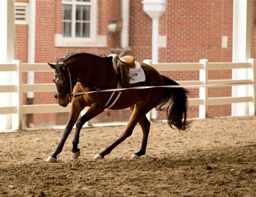
M 73 125 L 75 125 L 78 117 L 79 117 L 79 114 L 80 112 L 84 109 L 85 105 L 81 105 L 78 100 L 74 100 L 72 102 L 72 107 L 71 107 L 71 112 L 70 112 L 70 116 L 69 116 L 69 121 L 68 121 L 68 124 L 66 125 L 65 129 L 64 129 L 64 132 L 63 132 L 63 135 L 62 135 L 62 139 L 60 139 L 60 142 L 57 146 L 57 149 L 55 150 L 55 152 L 53 152 L 51 154 L 51 156 L 49 156 L 47 159 L 46 159 L 46 162 L 49 162 L 49 163 L 53 163 L 57 160 L 57 156 L 60 152 L 62 152 L 62 149 L 63 149 L 63 146 L 66 142 L 66 139 L 68 138 L 72 128 L 73 128 Z

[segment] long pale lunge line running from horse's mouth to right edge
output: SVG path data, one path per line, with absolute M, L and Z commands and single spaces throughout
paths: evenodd
M 212 85 L 171 85 L 171 86 L 138 86 L 138 87 L 132 87 L 132 88 L 117 88 L 117 89 L 97 89 L 93 91 L 87 91 L 87 92 L 80 92 L 76 94 L 72 94 L 71 96 L 77 97 L 82 96 L 85 94 L 92 94 L 92 93 L 99 93 L 99 92 L 118 92 L 118 91 L 124 91 L 124 90 L 131 90 L 131 89 L 150 89 L 150 88 L 200 88 L 200 87 L 218 87 L 218 86 L 229 86 L 229 85 L 248 85 L 251 83 L 256 83 L 256 81 L 253 82 L 233 82 L 233 83 L 219 83 L 219 84 L 212 84 Z

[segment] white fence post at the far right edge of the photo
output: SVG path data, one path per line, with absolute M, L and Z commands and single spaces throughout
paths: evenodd
M 251 63 L 252 67 L 249 68 L 248 74 L 249 79 L 251 79 L 253 82 L 256 81 L 256 60 L 255 59 L 248 59 L 248 62 Z M 256 84 L 253 83 L 252 85 L 249 85 L 249 96 L 253 97 L 253 101 L 249 102 L 249 115 L 256 115 Z

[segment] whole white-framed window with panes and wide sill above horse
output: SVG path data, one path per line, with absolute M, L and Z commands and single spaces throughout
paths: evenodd
M 62 33 L 55 34 L 56 47 L 107 46 L 107 36 L 97 34 L 97 2 L 62 0 Z

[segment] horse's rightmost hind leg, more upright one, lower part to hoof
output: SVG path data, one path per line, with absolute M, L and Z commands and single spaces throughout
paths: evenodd
M 141 126 L 143 132 L 142 146 L 140 147 L 139 152 L 132 155 L 131 159 L 140 158 L 140 156 L 143 156 L 146 153 L 147 138 L 149 137 L 150 132 L 150 122 L 146 116 L 143 116 L 139 120 L 139 125 Z

